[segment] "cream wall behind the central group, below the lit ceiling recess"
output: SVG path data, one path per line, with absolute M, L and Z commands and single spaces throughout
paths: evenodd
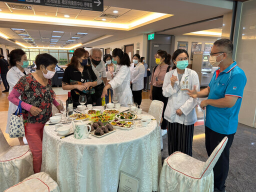
M 97 45 L 96 47 L 104 48 L 104 49 L 110 48 L 110 50 L 113 50 L 114 48 L 121 48 L 122 46 L 124 46 L 126 44 L 133 44 L 133 48 L 134 48 L 133 54 L 135 54 L 137 42 L 140 43 L 139 55 L 146 57 L 146 50 L 147 50 L 147 35 L 146 34 L 141 34 L 138 36 L 125 38 L 122 40 L 113 41 L 111 43 L 100 44 L 100 45 Z

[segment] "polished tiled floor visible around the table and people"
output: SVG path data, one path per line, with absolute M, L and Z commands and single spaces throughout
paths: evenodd
M 0 85 L 2 88 L 2 85 Z M 61 87 L 54 87 L 56 98 L 62 100 L 65 104 L 67 91 Z M 148 111 L 151 100 L 148 99 L 149 92 L 142 92 L 142 102 L 140 107 L 143 111 Z M 7 110 L 8 110 L 8 93 L 0 91 L 0 129 L 5 131 Z M 201 99 L 200 99 L 201 100 Z M 193 157 L 202 161 L 206 161 L 207 153 L 204 145 L 204 127 L 203 112 L 200 107 L 196 106 L 196 114 L 199 119 L 194 127 L 193 136 Z M 4 132 L 4 136 L 10 145 L 17 145 L 16 138 L 9 138 Z M 163 150 L 161 152 L 162 160 L 168 156 L 167 152 L 167 135 L 163 136 Z M 230 166 L 229 174 L 226 180 L 227 192 L 252 192 L 256 191 L 256 129 L 238 124 L 237 132 L 230 149 Z

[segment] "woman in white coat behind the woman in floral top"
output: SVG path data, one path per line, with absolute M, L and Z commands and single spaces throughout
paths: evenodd
M 8 54 L 11 68 L 8 70 L 6 79 L 10 86 L 9 92 L 13 89 L 13 86 L 17 83 L 21 76 L 30 73 L 30 70 L 26 68 L 28 66 L 28 60 L 26 53 L 21 49 L 13 49 Z M 19 98 L 20 99 L 20 98 Z M 10 115 L 17 110 L 17 106 L 9 101 L 7 125 L 5 132 L 9 133 L 9 119 Z M 24 145 L 23 137 L 18 137 L 20 145 Z

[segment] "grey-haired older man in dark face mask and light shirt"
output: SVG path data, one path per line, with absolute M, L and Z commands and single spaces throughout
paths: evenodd
M 101 58 L 102 52 L 100 48 L 90 49 L 90 59 L 88 59 L 88 63 L 91 64 L 92 70 L 97 76 L 97 85 L 94 87 L 95 93 L 91 95 L 93 105 L 101 105 L 101 94 L 104 84 L 107 84 L 105 63 Z

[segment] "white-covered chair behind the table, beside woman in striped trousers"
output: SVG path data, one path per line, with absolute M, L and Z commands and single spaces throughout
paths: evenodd
M 150 115 L 152 115 L 153 117 L 155 117 L 159 131 L 160 131 L 161 149 L 163 147 L 162 136 L 161 136 L 161 126 L 160 126 L 161 117 L 162 117 L 162 109 L 163 109 L 163 102 L 160 100 L 152 100 L 152 102 L 149 106 L 149 109 L 148 109 L 148 113 Z

